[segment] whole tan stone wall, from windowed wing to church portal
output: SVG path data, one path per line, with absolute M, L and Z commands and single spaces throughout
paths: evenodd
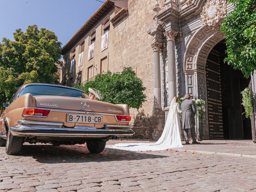
M 100 60 L 107 56 L 108 70 L 111 72 L 121 72 L 124 67 L 132 67 L 137 76 L 142 79 L 143 85 L 146 87 L 145 94 L 147 96 L 142 108 L 139 110 L 130 109 L 132 116 L 131 124 L 135 126 L 135 137 L 157 139 L 162 133 L 164 127 L 164 114 L 155 114 L 153 110 L 154 104 L 154 69 L 153 69 L 153 50 L 152 36 L 147 31 L 154 26 L 153 7 L 155 0 L 128 0 L 128 17 L 117 26 L 110 24 L 108 48 L 100 52 L 101 45 L 101 24 L 104 18 L 94 26 L 96 29 L 96 42 L 94 45 L 94 58 L 87 60 L 89 34 L 82 39 L 85 40 L 83 66 L 78 68 L 78 55 L 80 52 L 81 40 L 64 55 L 69 56 L 74 48 L 76 49 L 76 65 L 73 73 L 73 81 L 76 83 L 77 73 L 82 71 L 82 82 L 87 80 L 88 67 L 94 66 L 94 70 L 100 71 Z M 164 0 L 158 0 L 162 11 L 164 8 Z M 107 14 L 111 18 L 114 11 Z M 71 59 L 70 59 L 71 60 Z M 69 82 L 72 77 L 69 73 L 70 64 L 62 68 L 62 83 Z M 97 73 L 94 72 L 94 75 Z M 68 86 L 70 84 L 67 83 Z

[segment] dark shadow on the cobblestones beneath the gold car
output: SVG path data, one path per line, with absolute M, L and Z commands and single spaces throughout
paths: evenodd
M 80 163 L 165 158 L 168 156 L 105 148 L 100 154 L 91 154 L 84 145 L 23 145 L 22 156 L 31 156 L 40 163 Z

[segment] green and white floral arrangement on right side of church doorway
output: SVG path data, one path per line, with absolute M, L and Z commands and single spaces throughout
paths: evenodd
M 244 106 L 244 114 L 246 118 L 252 118 L 252 92 L 249 87 L 246 87 L 242 92 L 242 105 Z

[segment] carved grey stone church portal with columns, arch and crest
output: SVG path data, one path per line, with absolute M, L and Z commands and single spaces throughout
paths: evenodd
M 206 62 L 214 46 L 225 38 L 220 26 L 225 15 L 233 10 L 233 5 L 224 0 L 166 0 L 164 9 L 160 12 L 156 2 L 154 26 L 149 30 L 153 36 L 156 76 L 162 76 L 154 84 L 156 107 L 168 113 L 168 105 L 174 96 L 181 97 L 185 93 L 198 96 L 206 102 L 204 122 L 197 122 L 203 138 L 221 139 L 223 131 L 220 121 L 210 122 L 217 123 L 219 127 L 214 132 L 210 131 L 212 124 L 209 124 L 211 114 L 208 113 L 208 102 L 216 105 L 221 100 L 210 98 Z M 221 92 L 221 89 L 214 91 Z M 210 111 L 218 112 L 220 110 Z

